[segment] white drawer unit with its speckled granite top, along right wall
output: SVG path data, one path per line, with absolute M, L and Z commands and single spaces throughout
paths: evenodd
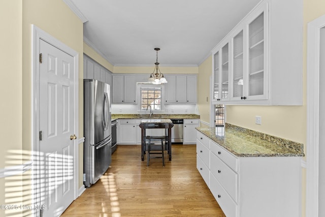
M 197 131 L 197 169 L 226 216 L 301 216 L 303 144 L 228 123 Z

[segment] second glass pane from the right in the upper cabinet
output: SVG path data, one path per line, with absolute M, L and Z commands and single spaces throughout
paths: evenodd
M 234 37 L 234 79 L 233 97 L 243 96 L 243 30 Z

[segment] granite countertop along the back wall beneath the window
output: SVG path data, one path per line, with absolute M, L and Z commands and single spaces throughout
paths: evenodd
M 112 114 L 112 120 L 116 119 L 143 119 L 143 118 L 163 118 L 163 119 L 200 119 L 198 114 Z

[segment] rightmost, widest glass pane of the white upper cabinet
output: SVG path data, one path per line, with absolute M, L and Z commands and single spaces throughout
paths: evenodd
M 249 24 L 249 96 L 264 94 L 264 14 Z

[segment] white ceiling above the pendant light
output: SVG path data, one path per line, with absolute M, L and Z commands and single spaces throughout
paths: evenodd
M 260 0 L 63 1 L 114 66 L 154 66 L 155 47 L 160 66 L 198 66 Z

